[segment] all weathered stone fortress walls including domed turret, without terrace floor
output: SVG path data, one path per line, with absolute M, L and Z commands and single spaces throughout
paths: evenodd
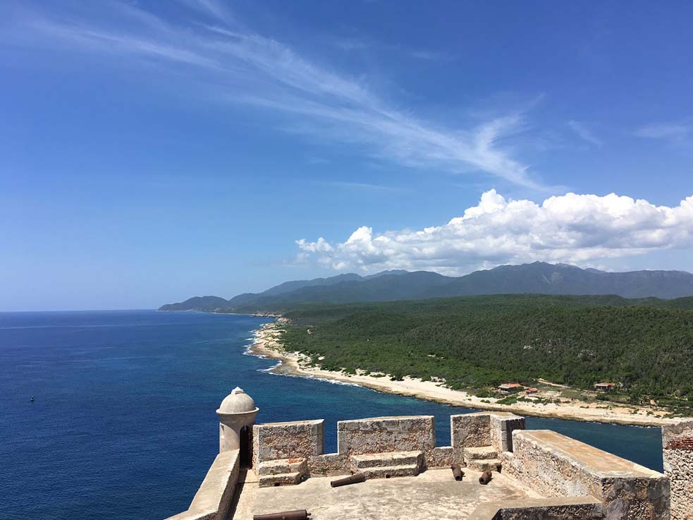
M 337 451 L 326 454 L 323 420 L 253 425 L 252 399 L 234 392 L 217 411 L 221 453 L 190 509 L 170 520 L 225 519 L 244 450 L 252 468 L 245 471 L 261 488 L 352 473 L 416 476 L 460 464 L 501 471 L 544 497 L 485 503 L 470 520 L 693 520 L 693 421 L 663 428 L 666 475 L 551 430 L 525 430 L 524 418 L 505 412 L 450 416 L 450 445 L 443 447 L 436 447 L 433 416 L 339 421 Z

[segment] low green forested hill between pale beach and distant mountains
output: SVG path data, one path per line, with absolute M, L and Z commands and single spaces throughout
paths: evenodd
M 693 298 L 499 295 L 284 314 L 293 319 L 287 348 L 316 363 L 324 356 L 319 364 L 331 370 L 444 377 L 467 388 L 540 377 L 585 389 L 614 381 L 634 399 L 693 396 Z

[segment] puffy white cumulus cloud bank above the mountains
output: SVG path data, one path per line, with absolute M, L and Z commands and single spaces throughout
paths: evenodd
M 610 195 L 567 193 L 506 199 L 495 189 L 446 224 L 374 233 L 361 226 L 344 242 L 296 241 L 302 260 L 336 270 L 432 270 L 465 274 L 502 264 L 566 262 L 591 265 L 608 258 L 693 246 L 693 195 L 675 207 Z

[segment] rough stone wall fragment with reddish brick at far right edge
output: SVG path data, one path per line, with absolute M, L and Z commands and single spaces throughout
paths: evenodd
M 693 420 L 662 427 L 664 474 L 670 479 L 671 520 L 693 519 Z

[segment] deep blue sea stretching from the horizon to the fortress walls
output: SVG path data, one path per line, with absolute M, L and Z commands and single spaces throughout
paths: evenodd
M 244 355 L 267 320 L 153 310 L 0 313 L 0 519 L 157 520 L 187 509 L 218 451 L 214 411 L 236 385 L 258 422 L 449 416 L 467 409 L 263 370 Z M 34 396 L 35 400 L 30 401 Z M 658 428 L 527 418 L 658 471 Z

